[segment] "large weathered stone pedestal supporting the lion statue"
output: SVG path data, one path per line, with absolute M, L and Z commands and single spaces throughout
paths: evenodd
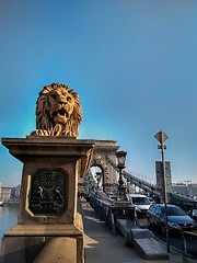
M 26 261 L 21 262 L 33 262 L 33 254 L 54 237 L 77 239 L 78 262 L 83 262 L 83 225 L 77 213 L 77 190 L 94 145 L 65 137 L 3 138 L 2 144 L 24 163 L 18 225 L 3 236 L 4 262 L 14 262 L 9 261 L 9 254 L 25 254 Z M 13 253 L 14 243 L 18 250 Z

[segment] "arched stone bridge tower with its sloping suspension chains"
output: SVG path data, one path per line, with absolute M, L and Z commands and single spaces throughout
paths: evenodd
M 116 165 L 115 153 L 119 149 L 115 140 L 90 140 L 95 145 L 94 153 L 90 163 L 90 169 L 83 179 L 79 181 L 79 191 L 94 195 L 97 190 L 105 194 L 117 193 L 118 187 L 118 168 Z M 100 170 L 97 173 L 96 171 Z M 142 176 L 135 172 L 124 171 L 124 181 L 128 192 L 134 192 L 137 186 L 144 193 L 160 196 L 157 183 L 153 179 Z M 170 202 L 181 206 L 194 206 L 197 202 L 187 196 L 170 193 Z

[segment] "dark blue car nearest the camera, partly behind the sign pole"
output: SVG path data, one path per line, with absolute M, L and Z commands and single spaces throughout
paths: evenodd
M 147 213 L 149 226 L 158 226 L 162 233 L 165 232 L 165 206 L 164 204 L 153 204 Z M 167 204 L 167 226 L 170 230 L 185 231 L 196 229 L 196 222 L 182 208 Z

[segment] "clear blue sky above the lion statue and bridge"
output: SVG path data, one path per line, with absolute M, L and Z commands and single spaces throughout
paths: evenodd
M 126 170 L 155 179 L 162 129 L 172 181 L 197 183 L 197 1 L 1 0 L 0 137 L 35 130 L 44 85 L 82 104 L 79 139 L 116 140 Z M 0 145 L 0 182 L 22 163 Z

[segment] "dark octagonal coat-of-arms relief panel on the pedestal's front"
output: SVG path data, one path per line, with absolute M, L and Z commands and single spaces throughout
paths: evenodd
M 60 171 L 38 171 L 32 179 L 30 209 L 34 214 L 59 214 L 65 209 L 66 178 Z

